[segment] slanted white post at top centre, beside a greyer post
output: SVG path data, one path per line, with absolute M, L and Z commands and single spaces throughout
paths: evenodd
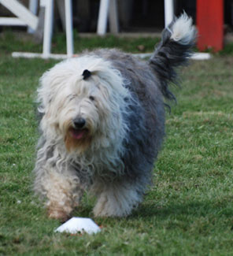
M 109 0 L 101 0 L 98 12 L 97 34 L 105 35 L 109 13 Z

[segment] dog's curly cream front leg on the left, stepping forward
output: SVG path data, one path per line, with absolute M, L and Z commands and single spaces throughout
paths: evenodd
M 83 194 L 80 179 L 73 171 L 46 164 L 35 174 L 35 192 L 46 196 L 48 216 L 66 221 Z

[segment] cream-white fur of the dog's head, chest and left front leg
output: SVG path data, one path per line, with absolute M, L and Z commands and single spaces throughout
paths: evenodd
M 85 69 L 92 74 L 88 80 L 83 80 Z M 131 96 L 124 87 L 127 82 L 120 72 L 113 69 L 108 61 L 94 56 L 62 61 L 47 71 L 40 83 L 38 102 L 43 118 L 35 165 L 35 191 L 48 198 L 46 205 L 49 209 L 54 207 L 50 217 L 59 218 L 59 214 L 68 215 L 71 212 L 81 195 L 80 191 L 76 191 L 76 187 L 82 186 L 76 177 L 75 167 L 88 176 L 106 176 L 124 171 L 120 158 L 124 154 L 123 139 L 128 132 L 128 124 L 123 118 L 123 114 L 128 114 L 128 103 L 124 98 L 130 102 Z M 94 96 L 95 101 L 91 102 L 89 96 Z M 68 151 L 65 136 L 77 116 L 86 119 L 93 138 L 87 150 L 78 147 Z M 53 148 L 53 154 L 48 158 L 50 148 Z M 128 192 L 124 196 L 129 205 L 125 203 L 125 207 L 131 206 L 131 199 L 132 202 L 139 201 L 134 199 L 130 189 L 118 193 L 123 196 Z M 96 209 L 100 207 L 103 196 Z M 116 207 L 109 210 L 111 213 L 105 210 L 105 215 L 113 214 Z M 129 212 L 124 208 L 122 211 L 118 210 L 117 215 Z

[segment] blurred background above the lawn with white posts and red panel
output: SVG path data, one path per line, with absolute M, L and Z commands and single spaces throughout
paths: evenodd
M 71 14 L 68 9 L 72 9 Z M 0 0 L 0 32 L 31 33 L 34 43 L 44 44 L 43 56 L 50 54 L 53 32 L 66 32 L 72 56 L 72 32 L 79 37 L 159 38 L 172 18 L 183 12 L 197 25 L 198 50 L 216 52 L 233 42 L 233 0 Z M 67 17 L 70 31 L 65 24 Z M 46 28 L 50 31 L 45 32 Z M 139 45 L 138 50 L 145 51 L 146 47 Z

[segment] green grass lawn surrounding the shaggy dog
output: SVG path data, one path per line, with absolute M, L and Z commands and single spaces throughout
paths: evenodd
M 78 39 L 76 50 L 119 45 L 136 52 L 144 44 L 150 51 L 155 41 Z M 64 38 L 57 42 L 54 51 L 64 52 Z M 233 255 L 232 49 L 181 70 L 154 185 L 139 209 L 127 218 L 94 218 L 103 226 L 97 235 L 70 236 L 54 233 L 60 223 L 31 191 L 35 88 L 55 61 L 13 59 L 13 50 L 41 46 L 0 36 L 0 255 Z M 92 206 L 85 196 L 74 216 L 93 218 Z

